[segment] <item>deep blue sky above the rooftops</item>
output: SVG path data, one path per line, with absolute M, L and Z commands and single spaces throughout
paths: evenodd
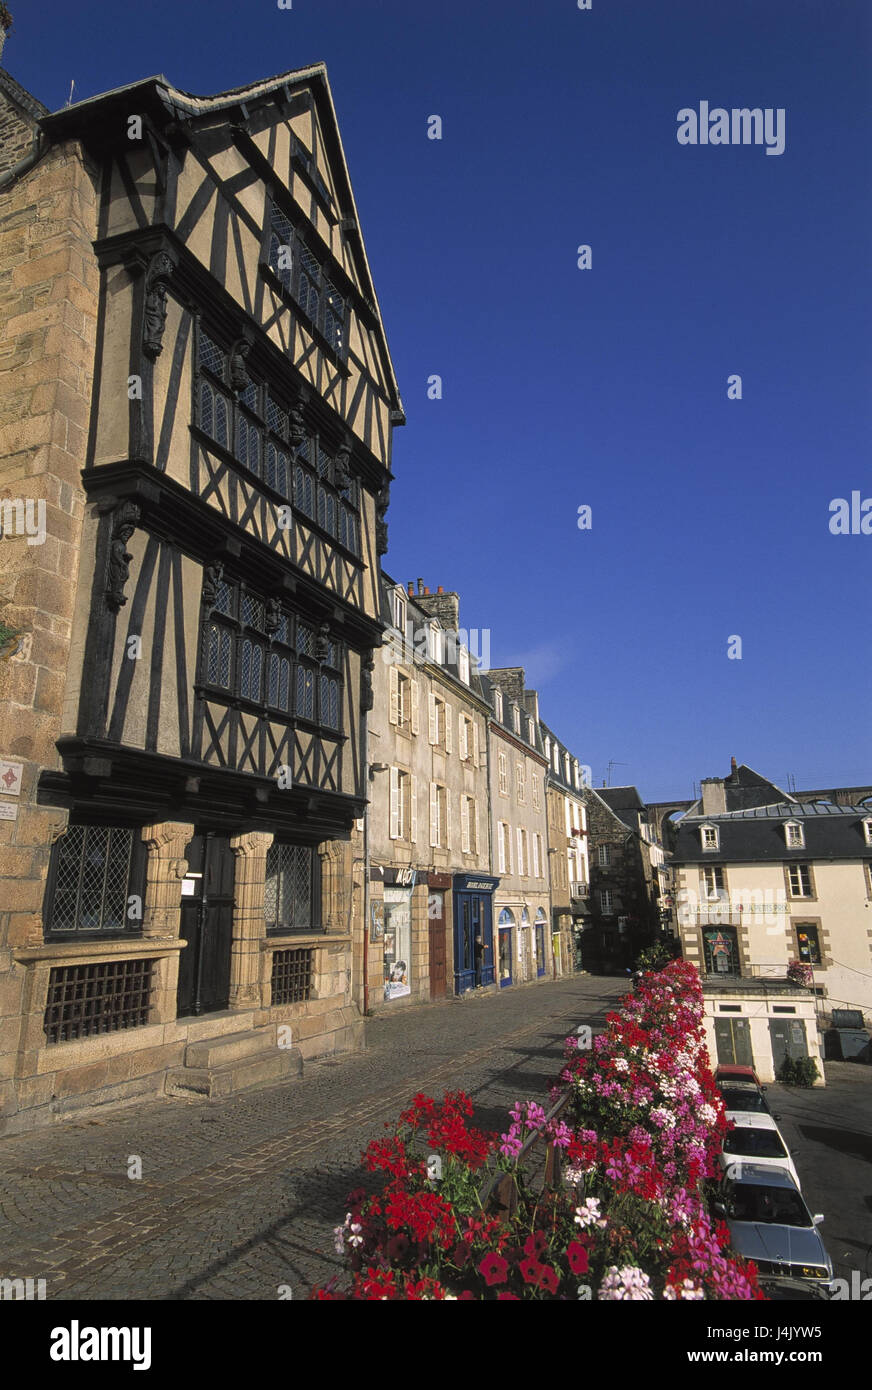
M 387 567 L 460 592 L 595 784 L 872 780 L 872 535 L 827 528 L 872 496 L 868 0 L 10 7 L 50 107 L 327 61 L 407 413 Z M 786 152 L 679 146 L 700 100 L 784 107 Z

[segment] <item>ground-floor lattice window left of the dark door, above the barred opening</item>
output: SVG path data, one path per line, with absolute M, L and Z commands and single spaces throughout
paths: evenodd
M 138 840 L 117 826 L 70 826 L 51 851 L 46 934 L 142 927 Z

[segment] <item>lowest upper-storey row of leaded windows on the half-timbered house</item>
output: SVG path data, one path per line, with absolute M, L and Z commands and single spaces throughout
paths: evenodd
M 263 595 L 224 580 L 203 624 L 206 685 L 307 720 L 342 727 L 342 645 Z

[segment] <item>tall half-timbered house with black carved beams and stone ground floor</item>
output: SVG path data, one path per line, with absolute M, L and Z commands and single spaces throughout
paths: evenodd
M 56 113 L 1 71 L 0 131 L 22 1129 L 360 1044 L 349 837 L 403 417 L 323 65 Z

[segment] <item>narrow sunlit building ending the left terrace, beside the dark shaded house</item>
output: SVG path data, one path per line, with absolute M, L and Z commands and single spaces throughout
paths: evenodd
M 588 827 L 584 788 L 590 783 L 556 734 L 542 724 L 545 808 L 551 881 L 551 942 L 556 974 L 581 967 L 581 940 L 590 922 Z

